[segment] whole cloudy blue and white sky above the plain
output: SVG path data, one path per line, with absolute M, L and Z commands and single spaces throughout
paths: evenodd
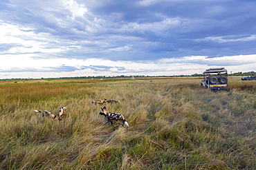
M 254 0 L 1 0 L 0 78 L 256 72 Z

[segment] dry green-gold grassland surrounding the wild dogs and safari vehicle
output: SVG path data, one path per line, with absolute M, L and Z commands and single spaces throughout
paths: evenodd
M 0 169 L 256 169 L 256 81 L 240 80 L 217 93 L 200 78 L 2 82 Z M 104 98 L 120 103 L 90 103 Z M 62 121 L 33 111 L 60 106 Z M 129 129 L 103 125 L 103 106 Z

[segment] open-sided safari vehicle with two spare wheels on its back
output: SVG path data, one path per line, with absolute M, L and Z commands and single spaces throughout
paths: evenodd
M 205 76 L 206 75 L 206 76 Z M 210 68 L 203 72 L 203 81 L 201 85 L 205 89 L 216 91 L 219 89 L 228 90 L 228 71 L 224 67 Z

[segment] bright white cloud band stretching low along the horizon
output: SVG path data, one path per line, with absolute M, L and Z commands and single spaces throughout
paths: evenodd
M 26 73 L 29 77 L 41 78 L 59 76 L 115 76 L 115 75 L 179 75 L 201 73 L 209 67 L 226 67 L 232 72 L 253 71 L 256 64 L 255 55 L 248 56 L 223 56 L 209 58 L 207 56 L 186 56 L 179 59 L 159 59 L 155 61 L 110 61 L 102 59 L 55 59 L 55 62 L 48 63 L 51 59 L 38 59 L 39 65 L 28 67 L 12 67 L 1 69 L 0 76 L 18 76 Z M 79 63 L 79 65 L 77 65 Z M 101 63 L 101 65 L 98 65 Z M 31 65 L 31 64 L 30 64 Z M 38 66 L 38 67 L 37 67 Z M 8 75 L 7 75 L 8 73 Z M 23 76 L 24 77 L 24 76 Z M 28 76 L 26 76 L 28 77 Z

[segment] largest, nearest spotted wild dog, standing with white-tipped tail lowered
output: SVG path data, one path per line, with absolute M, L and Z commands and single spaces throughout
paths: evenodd
M 117 123 L 118 123 L 118 121 L 122 121 L 122 123 L 123 123 L 123 125 L 125 125 L 125 127 L 127 127 L 127 128 L 129 127 L 127 120 L 125 120 L 125 117 L 122 116 L 122 114 L 107 112 L 106 107 L 103 107 L 100 109 L 101 109 L 100 115 L 106 116 L 106 118 L 107 118 L 107 122 L 104 123 L 103 125 L 106 125 L 107 123 L 111 123 L 113 129 L 116 130 L 116 127 L 113 126 L 113 120 L 115 120 Z

